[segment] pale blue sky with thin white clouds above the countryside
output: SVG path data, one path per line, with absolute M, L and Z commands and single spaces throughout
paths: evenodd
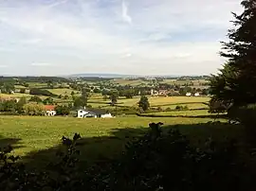
M 0 0 L 0 75 L 210 75 L 238 0 Z

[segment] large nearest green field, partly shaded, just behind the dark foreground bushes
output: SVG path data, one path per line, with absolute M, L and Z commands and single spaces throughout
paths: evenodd
M 21 155 L 23 160 L 30 162 L 32 159 L 37 159 L 37 164 L 44 165 L 55 159 L 54 154 L 60 147 L 63 135 L 71 137 L 75 132 L 79 132 L 82 135 L 82 147 L 80 149 L 86 156 L 82 160 L 96 162 L 101 161 L 102 158 L 117 157 L 127 141 L 144 132 L 149 123 L 159 121 L 166 126 L 182 124 L 181 130 L 193 137 L 197 133 L 196 124 L 207 123 L 212 119 L 137 116 L 109 119 L 1 116 L 0 146 L 4 147 L 11 144 L 14 147 L 14 153 Z M 203 127 L 198 128 L 198 130 L 211 134 L 208 129 L 204 130 Z M 204 136 L 198 137 L 202 133 L 199 132 L 196 135 L 197 138 L 204 139 L 206 135 L 208 136 L 206 133 Z M 217 134 L 219 133 L 217 132 Z

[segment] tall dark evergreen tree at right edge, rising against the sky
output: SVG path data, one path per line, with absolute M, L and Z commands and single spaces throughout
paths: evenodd
M 256 7 L 255 0 L 242 2 L 244 12 L 233 14 L 234 27 L 221 55 L 229 62 L 210 80 L 211 94 L 237 106 L 256 103 Z

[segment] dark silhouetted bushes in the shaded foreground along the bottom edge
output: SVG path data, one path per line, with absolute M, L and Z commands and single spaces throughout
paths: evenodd
M 211 138 L 192 147 L 177 129 L 149 124 L 141 137 L 125 145 L 121 157 L 98 165 L 78 165 L 82 139 L 62 138 L 59 157 L 50 172 L 26 170 L 12 148 L 0 151 L 1 190 L 254 190 L 253 169 L 242 163 L 234 140 L 218 144 Z M 251 171 L 250 171 L 251 170 Z M 249 189 L 248 189 L 249 188 Z

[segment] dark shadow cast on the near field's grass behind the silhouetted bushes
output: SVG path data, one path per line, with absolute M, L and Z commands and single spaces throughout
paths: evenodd
M 231 126 L 224 123 L 220 123 L 219 125 L 205 123 L 197 125 L 165 126 L 163 130 L 173 128 L 180 130 L 181 133 L 186 135 L 191 143 L 196 146 L 205 143 L 209 137 L 220 142 L 232 138 L 242 139 L 243 137 L 239 126 Z M 102 165 L 119 159 L 123 154 L 125 145 L 129 141 L 143 136 L 147 130 L 147 128 L 113 129 L 109 136 L 82 137 L 77 147 L 81 151 L 79 165 L 83 168 L 91 165 Z M 55 162 L 57 160 L 56 152 L 63 149 L 61 138 L 62 137 L 60 137 L 60 144 L 58 146 L 30 152 L 23 158 L 23 162 L 28 168 L 46 168 L 49 162 Z

